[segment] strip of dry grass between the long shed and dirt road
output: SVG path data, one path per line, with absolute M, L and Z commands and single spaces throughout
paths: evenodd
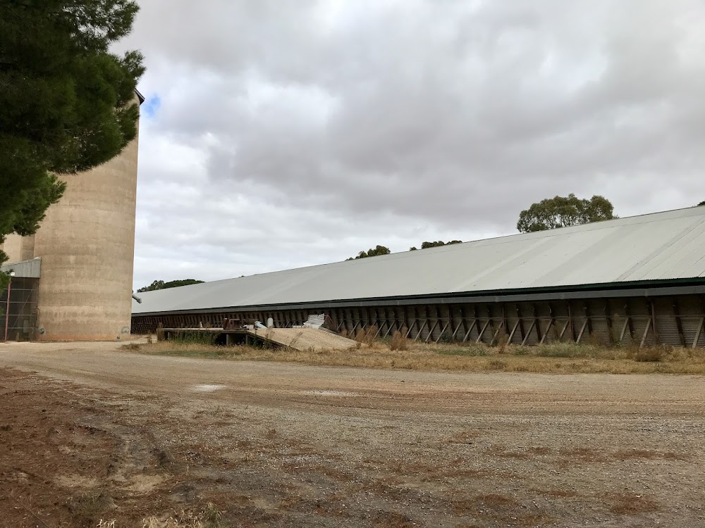
M 372 332 L 372 335 L 376 330 Z M 705 374 L 705 350 L 692 348 L 608 348 L 593 344 L 550 343 L 541 346 L 486 346 L 462 343 L 420 343 L 394 332 L 390 339 L 369 341 L 360 335 L 347 351 L 293 351 L 252 346 L 213 346 L 158 341 L 142 344 L 141 353 L 229 360 L 286 361 L 307 365 L 455 370 L 464 372 L 535 372 L 542 374 Z M 388 343 L 388 344 L 387 344 Z M 639 356 L 642 354 L 642 356 Z M 660 361 L 637 360 L 652 355 Z M 557 360 L 560 359 L 560 360 Z

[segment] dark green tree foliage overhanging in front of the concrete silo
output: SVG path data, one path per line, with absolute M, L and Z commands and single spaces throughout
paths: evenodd
M 34 233 L 56 175 L 114 158 L 137 134 L 142 56 L 109 52 L 133 0 L 0 0 L 0 243 Z M 0 251 L 0 263 L 7 259 Z M 0 274 L 1 275 L 1 274 Z

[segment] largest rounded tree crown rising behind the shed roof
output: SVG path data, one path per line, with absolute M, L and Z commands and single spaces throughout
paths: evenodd
M 593 196 L 589 200 L 581 200 L 575 194 L 556 196 L 522 210 L 517 230 L 530 233 L 618 218 L 613 213 L 612 203 L 603 196 Z

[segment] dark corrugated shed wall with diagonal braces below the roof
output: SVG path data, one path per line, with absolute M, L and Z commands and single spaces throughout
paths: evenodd
M 498 344 L 506 340 L 527 346 L 551 341 L 705 346 L 705 298 L 698 295 L 133 315 L 132 331 L 153 333 L 159 322 L 166 328 L 220 327 L 224 318 L 248 322 L 272 318 L 276 327 L 291 327 L 319 313 L 329 316 L 336 332 L 354 335 L 376 327 L 378 337 L 400 331 L 415 341 L 436 343 Z

